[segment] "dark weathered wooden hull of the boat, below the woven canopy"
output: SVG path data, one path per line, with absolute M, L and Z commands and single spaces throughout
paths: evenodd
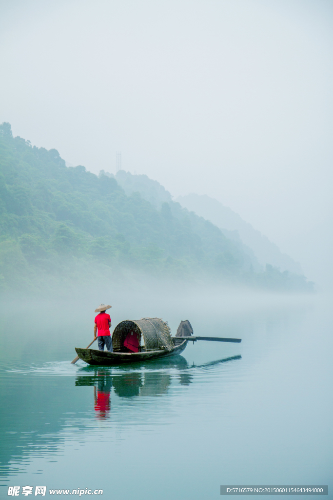
M 148 352 L 108 352 L 96 349 L 81 349 L 75 347 L 76 353 L 82 361 L 97 366 L 114 366 L 124 363 L 135 363 L 149 361 L 150 359 L 160 359 L 162 357 L 174 356 L 183 352 L 188 340 L 184 340 L 171 351 L 150 350 Z

